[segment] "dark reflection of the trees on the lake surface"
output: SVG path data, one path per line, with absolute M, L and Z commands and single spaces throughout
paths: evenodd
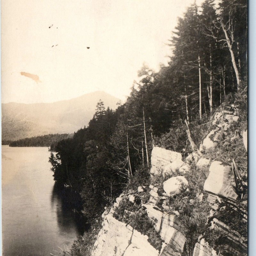
M 79 235 L 89 228 L 86 219 L 79 214 L 81 200 L 78 193 L 70 187 L 58 185 L 56 182 L 52 188 L 51 206 L 52 212 L 56 211 L 57 223 L 60 232 L 76 227 Z

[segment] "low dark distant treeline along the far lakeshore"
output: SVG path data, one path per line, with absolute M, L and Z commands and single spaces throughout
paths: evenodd
M 60 140 L 72 138 L 73 134 L 47 134 L 15 141 L 9 141 L 10 147 L 51 147 L 51 151 L 55 151 L 55 147 Z M 3 142 L 2 142 L 3 143 Z M 8 145 L 7 144 L 7 145 Z M 6 145 L 6 144 L 5 144 Z

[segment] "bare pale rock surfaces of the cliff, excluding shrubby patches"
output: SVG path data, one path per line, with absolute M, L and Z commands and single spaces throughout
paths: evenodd
M 201 152 L 193 152 L 184 160 L 178 152 L 159 147 L 153 148 L 151 178 L 166 177 L 166 174 L 171 178 L 165 180 L 162 185 L 160 184 L 162 186 L 160 189 L 159 184 L 151 184 L 149 187 L 140 186 L 137 191 L 123 193 L 116 198 L 116 203 L 111 210 L 109 212 L 106 210 L 102 214 L 102 229 L 94 244 L 92 255 L 181 256 L 188 239 L 185 235 L 186 227 L 184 227 L 180 212 L 172 208 L 168 202 L 170 202 L 170 198 L 189 191 L 191 184 L 184 175 L 192 172 L 192 165 L 197 168 L 209 169 L 209 175 L 204 181 L 204 188 L 202 188 L 201 194 L 196 195 L 196 200 L 203 202 L 205 200 L 203 198 L 207 198 L 206 202 L 212 209 L 207 217 L 205 227 L 209 232 L 218 231 L 219 236 L 222 237 L 222 249 L 217 253 L 206 242 L 204 235 L 200 235 L 194 246 L 193 256 L 246 255 L 247 244 L 244 237 L 225 223 L 225 214 L 228 219 L 227 216 L 231 211 L 236 212 L 242 221 L 247 223 L 247 200 L 243 200 L 247 184 L 241 180 L 241 177 L 239 178 L 235 164 L 223 164 L 220 161 L 211 160 L 209 154 L 204 154 L 204 152 L 209 152 L 210 148 L 217 146 L 216 138 L 218 136 L 216 134 L 223 130 L 228 133 L 229 124 L 237 122 L 238 118 L 238 110 L 235 106 L 226 107 L 223 111 L 216 113 L 213 118 L 213 130 L 205 136 L 200 147 Z M 247 147 L 245 142 L 244 146 Z M 148 195 L 148 199 L 142 203 L 142 198 L 145 195 Z M 132 204 L 140 204 L 142 209 L 147 212 L 147 216 L 155 221 L 155 230 L 162 242 L 161 250 L 154 248 L 148 236 L 114 217 L 116 209 L 125 200 Z M 190 205 L 195 204 L 195 198 L 186 198 L 186 200 Z M 220 216 L 222 216 L 221 220 L 218 219 Z

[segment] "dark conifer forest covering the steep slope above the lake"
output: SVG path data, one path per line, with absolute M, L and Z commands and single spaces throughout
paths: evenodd
M 247 2 L 213 2 L 194 4 L 179 19 L 168 66 L 154 72 L 144 65 L 124 105 L 105 110 L 100 101 L 88 127 L 57 144 L 50 157 L 54 180 L 76 188 L 88 218 L 134 176 L 149 174 L 154 145 L 191 151 L 184 119 L 199 142 L 196 127 L 229 95 L 245 90 Z

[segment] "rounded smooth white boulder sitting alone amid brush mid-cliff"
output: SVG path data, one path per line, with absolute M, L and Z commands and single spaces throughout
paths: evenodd
M 183 176 L 172 177 L 163 183 L 164 192 L 167 196 L 179 194 L 184 188 L 188 187 L 188 180 Z

